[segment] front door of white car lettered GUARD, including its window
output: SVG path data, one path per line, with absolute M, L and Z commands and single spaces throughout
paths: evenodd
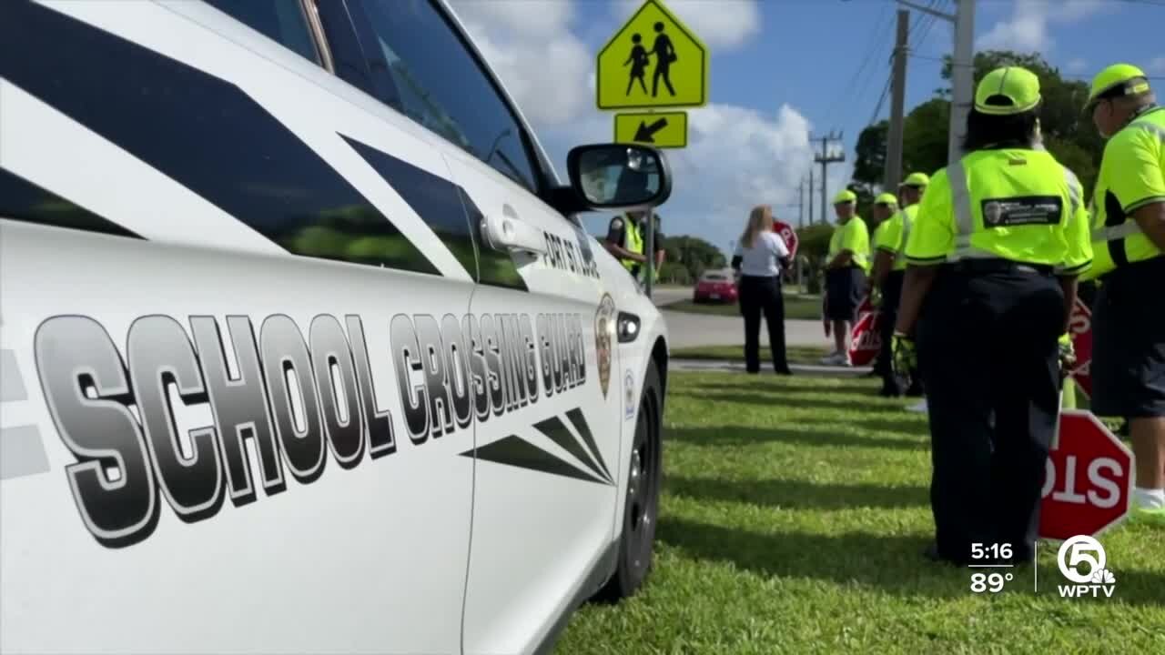
M 352 5 L 402 104 L 445 136 L 471 224 L 483 226 L 465 324 L 479 439 L 465 645 L 513 653 L 612 538 L 621 404 L 594 325 L 606 312 L 613 334 L 614 305 L 594 241 L 535 195 L 543 176 L 525 128 L 456 22 L 426 0 Z

